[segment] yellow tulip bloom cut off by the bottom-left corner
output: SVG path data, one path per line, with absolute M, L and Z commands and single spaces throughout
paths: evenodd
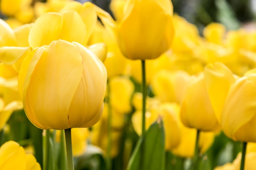
M 8 141 L 0 147 L 1 170 L 41 170 L 34 155 L 26 154 L 17 142 Z

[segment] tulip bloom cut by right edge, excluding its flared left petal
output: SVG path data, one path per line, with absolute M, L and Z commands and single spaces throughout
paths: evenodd
M 231 139 L 256 142 L 256 70 L 231 85 L 221 116 L 224 133 Z

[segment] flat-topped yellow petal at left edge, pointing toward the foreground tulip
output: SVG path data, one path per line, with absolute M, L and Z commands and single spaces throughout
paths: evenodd
M 0 47 L 0 62 L 11 65 L 18 61 L 29 47 Z

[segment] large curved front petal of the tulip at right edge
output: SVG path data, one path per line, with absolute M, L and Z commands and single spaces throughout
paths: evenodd
M 221 116 L 224 133 L 234 140 L 245 141 L 238 135 L 238 129 L 247 124 L 256 114 L 256 85 L 247 77 L 242 77 L 231 86 Z M 238 131 L 238 132 L 237 132 Z M 241 132 L 241 130 L 240 130 Z M 235 135 L 236 134 L 236 135 Z M 248 136 L 248 133 L 246 133 Z

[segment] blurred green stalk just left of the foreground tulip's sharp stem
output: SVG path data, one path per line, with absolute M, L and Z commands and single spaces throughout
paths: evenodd
M 50 147 L 50 131 L 43 130 L 43 170 L 49 169 L 49 147 Z

